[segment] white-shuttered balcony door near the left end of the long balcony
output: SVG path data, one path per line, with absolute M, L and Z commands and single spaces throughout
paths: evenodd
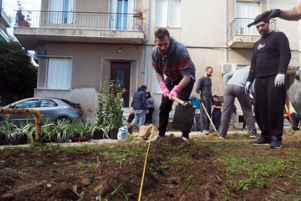
M 72 24 L 74 12 L 74 0 L 51 0 L 49 23 Z

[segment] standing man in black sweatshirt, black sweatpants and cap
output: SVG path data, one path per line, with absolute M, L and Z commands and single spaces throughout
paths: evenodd
M 269 21 L 265 23 L 262 15 L 258 15 L 254 22 L 258 20 L 260 22 L 255 26 L 261 39 L 253 46 L 245 92 L 249 93 L 251 83 L 256 78 L 255 118 L 261 137 L 250 143 L 280 148 L 286 98 L 284 78 L 291 56 L 290 49 L 288 39 L 282 32 L 271 32 Z

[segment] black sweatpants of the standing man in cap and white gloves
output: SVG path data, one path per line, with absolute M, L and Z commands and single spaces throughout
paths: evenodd
M 269 140 L 272 136 L 282 140 L 285 87 L 275 87 L 273 76 L 256 78 L 255 118 L 261 136 Z

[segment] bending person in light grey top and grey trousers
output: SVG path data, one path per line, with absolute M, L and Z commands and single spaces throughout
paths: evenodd
M 259 137 L 255 128 L 255 118 L 253 116 L 249 97 L 244 92 L 244 87 L 246 85 L 247 77 L 249 75 L 249 70 L 250 66 L 246 66 L 244 68 L 237 69 L 236 71 L 224 75 L 224 84 L 226 86 L 226 89 L 224 95 L 223 112 L 221 117 L 221 139 L 225 138 L 227 135 L 235 97 L 237 98 L 241 106 L 243 117 L 249 129 L 250 137 Z

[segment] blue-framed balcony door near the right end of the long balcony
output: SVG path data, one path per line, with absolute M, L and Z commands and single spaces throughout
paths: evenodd
M 132 30 L 134 0 L 111 0 L 110 29 Z

